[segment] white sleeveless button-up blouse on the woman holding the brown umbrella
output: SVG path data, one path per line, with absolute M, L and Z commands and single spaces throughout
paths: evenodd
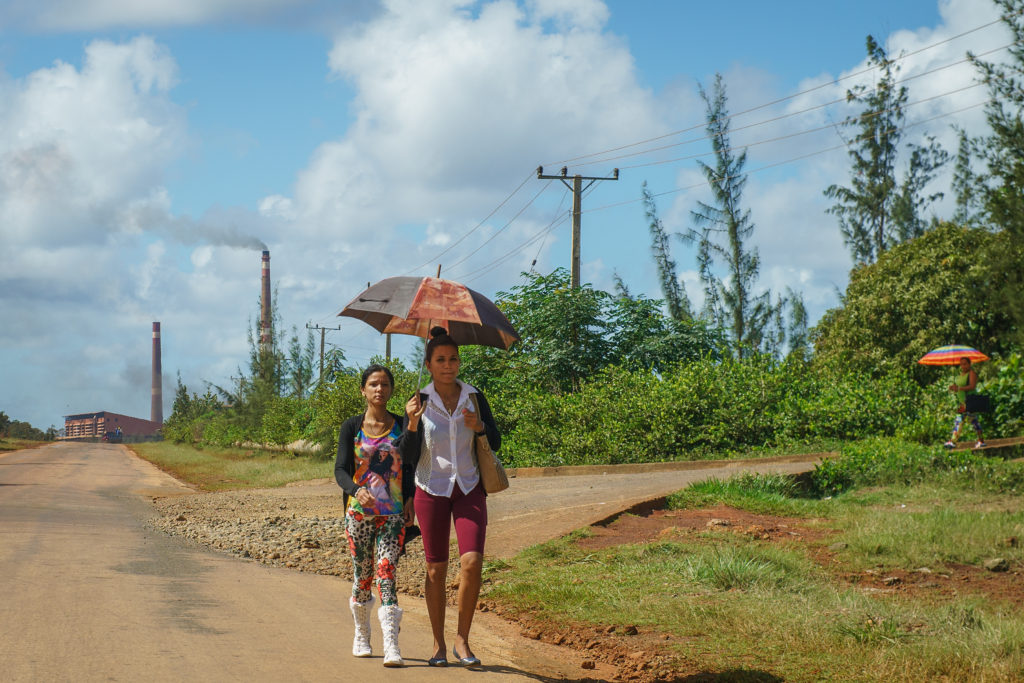
M 452 496 L 456 482 L 462 493 L 468 494 L 480 480 L 473 455 L 473 430 L 466 426 L 462 415 L 464 409 L 473 412 L 469 394 L 476 389 L 465 382 L 459 382 L 459 402 L 451 415 L 433 382 L 420 390 L 427 394 L 427 408 L 420 418 L 423 451 L 416 468 L 416 485 L 433 496 Z

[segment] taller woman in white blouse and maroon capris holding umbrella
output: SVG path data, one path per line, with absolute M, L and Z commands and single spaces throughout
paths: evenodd
M 455 522 L 459 542 L 459 626 L 452 653 L 468 668 L 480 666 L 469 646 L 469 630 L 480 593 L 487 503 L 473 456 L 476 435 L 486 434 L 498 451 L 501 434 L 483 394 L 459 381 L 459 346 L 444 328 L 430 331 L 424 365 L 431 382 L 406 403 L 402 461 L 415 469 L 416 516 L 427 561 L 427 612 L 434 636 L 431 667 L 447 665 L 444 640 L 449 538 Z M 478 407 L 478 411 L 476 408 Z

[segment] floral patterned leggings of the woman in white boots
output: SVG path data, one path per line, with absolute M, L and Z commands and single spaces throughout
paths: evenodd
M 373 597 L 371 587 L 376 574 L 381 604 L 398 604 L 394 572 L 406 538 L 406 521 L 402 516 L 367 517 L 349 509 L 345 514 L 345 536 L 348 537 L 348 552 L 352 557 L 352 597 L 356 602 L 370 600 Z

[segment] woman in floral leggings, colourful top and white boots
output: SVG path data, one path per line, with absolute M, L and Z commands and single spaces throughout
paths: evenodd
M 352 654 L 373 654 L 370 609 L 376 577 L 384 666 L 401 667 L 404 663 L 398 649 L 398 627 L 402 611 L 398 607 L 395 570 L 406 527 L 413 523 L 413 472 L 403 465 L 398 447 L 402 419 L 387 410 L 394 391 L 391 371 L 384 366 L 370 366 L 362 372 L 359 387 L 367 410 L 342 424 L 334 466 L 334 477 L 345 492 L 345 536 L 352 557 Z

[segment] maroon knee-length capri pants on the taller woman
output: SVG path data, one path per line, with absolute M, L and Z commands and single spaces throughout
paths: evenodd
M 487 496 L 481 482 L 477 482 L 468 494 L 462 493 L 456 482 L 451 497 L 433 496 L 417 486 L 413 504 L 423 533 L 423 554 L 427 562 L 449 561 L 452 520 L 455 520 L 460 557 L 466 553 L 483 554 L 483 541 L 487 533 Z

